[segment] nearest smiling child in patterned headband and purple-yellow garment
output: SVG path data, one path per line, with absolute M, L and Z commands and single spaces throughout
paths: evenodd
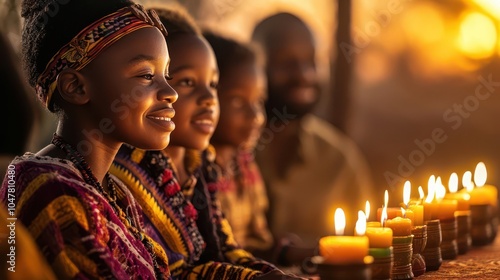
M 0 197 L 12 223 L 26 225 L 59 279 L 168 278 L 135 199 L 107 173 L 124 142 L 169 143 L 177 94 L 165 28 L 120 0 L 24 1 L 22 15 L 29 82 L 59 122 L 51 144 L 8 167 Z

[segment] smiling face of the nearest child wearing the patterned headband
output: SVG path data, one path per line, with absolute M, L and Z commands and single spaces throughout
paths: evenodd
M 169 60 L 161 32 L 142 28 L 82 69 L 90 96 L 87 135 L 142 149 L 164 149 L 175 127 L 170 118 L 177 99 L 165 79 Z

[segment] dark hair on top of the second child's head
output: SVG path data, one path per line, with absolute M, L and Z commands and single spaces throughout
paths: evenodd
M 167 43 L 172 37 L 179 34 L 201 35 L 201 31 L 194 19 L 180 6 L 170 7 L 169 9 L 153 8 L 152 10 L 156 11 L 167 29 Z

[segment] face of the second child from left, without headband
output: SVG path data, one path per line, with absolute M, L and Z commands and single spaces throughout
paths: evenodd
M 168 47 L 173 78 L 169 83 L 179 94 L 171 145 L 203 150 L 219 119 L 215 55 L 205 39 L 196 35 L 176 35 Z

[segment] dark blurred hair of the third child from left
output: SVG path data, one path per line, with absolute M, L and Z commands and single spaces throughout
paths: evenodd
M 243 44 L 234 39 L 215 34 L 212 31 L 203 32 L 203 36 L 212 46 L 220 77 L 224 79 L 234 66 L 243 63 L 259 63 L 261 56 L 255 46 Z

